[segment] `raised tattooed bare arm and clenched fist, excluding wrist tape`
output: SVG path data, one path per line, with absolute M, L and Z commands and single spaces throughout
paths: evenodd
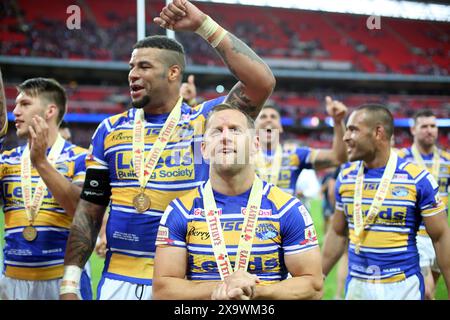
M 153 21 L 163 28 L 194 32 L 206 19 L 207 15 L 189 1 L 173 0 Z M 217 29 L 210 38 L 220 38 L 221 32 L 222 28 Z M 212 41 L 208 39 L 208 42 Z M 225 102 L 256 118 L 275 87 L 272 71 L 252 49 L 229 32 L 217 44 L 216 50 L 239 80 Z

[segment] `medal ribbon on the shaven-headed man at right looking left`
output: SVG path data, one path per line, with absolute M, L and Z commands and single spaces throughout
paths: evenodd
M 363 181 L 364 181 L 364 163 L 361 161 L 359 166 L 358 174 L 355 181 L 355 194 L 353 196 L 353 223 L 355 228 L 355 236 L 357 237 L 357 245 L 361 243 L 363 238 L 362 232 L 364 227 L 375 222 L 378 212 L 381 209 L 384 199 L 386 198 L 389 185 L 391 184 L 392 178 L 394 177 L 395 169 L 397 167 L 397 153 L 391 151 L 389 155 L 389 160 L 384 170 L 383 176 L 381 177 L 380 184 L 378 185 L 377 192 L 375 193 L 375 198 L 372 201 L 369 212 L 366 218 L 363 218 L 362 213 L 362 191 L 363 191 Z

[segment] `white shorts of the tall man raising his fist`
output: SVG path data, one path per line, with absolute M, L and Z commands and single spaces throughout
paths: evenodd
M 105 278 L 98 284 L 98 300 L 151 300 L 152 286 Z

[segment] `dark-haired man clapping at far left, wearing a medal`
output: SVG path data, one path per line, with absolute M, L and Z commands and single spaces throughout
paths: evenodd
M 0 299 L 58 299 L 86 150 L 58 134 L 67 98 L 57 81 L 33 78 L 17 89 L 16 132 L 28 143 L 0 156 L 6 243 Z M 91 288 L 85 272 L 81 282 L 83 298 L 88 299 Z

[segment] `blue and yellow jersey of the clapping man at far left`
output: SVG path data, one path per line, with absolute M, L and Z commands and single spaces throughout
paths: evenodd
M 37 238 L 28 242 L 22 230 L 29 225 L 22 199 L 20 178 L 24 146 L 0 156 L 0 186 L 5 214 L 4 265 L 8 277 L 22 280 L 49 280 L 63 276 L 64 253 L 72 217 L 56 202 L 47 189 L 34 221 Z M 55 168 L 69 181 L 83 185 L 87 150 L 65 142 Z M 32 167 L 32 192 L 39 180 Z

